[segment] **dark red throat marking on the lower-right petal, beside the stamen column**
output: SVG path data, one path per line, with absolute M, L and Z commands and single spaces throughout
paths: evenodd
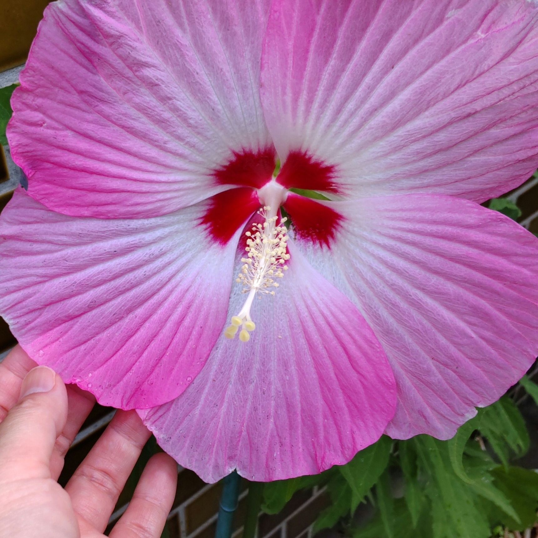
M 334 209 L 299 194 L 289 193 L 284 209 L 299 239 L 306 239 L 330 249 L 336 231 L 344 219 Z

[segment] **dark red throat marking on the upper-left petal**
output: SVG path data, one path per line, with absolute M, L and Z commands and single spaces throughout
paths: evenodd
M 273 147 L 253 152 L 233 152 L 233 158 L 213 175 L 219 185 L 238 185 L 259 189 L 271 179 L 276 164 Z

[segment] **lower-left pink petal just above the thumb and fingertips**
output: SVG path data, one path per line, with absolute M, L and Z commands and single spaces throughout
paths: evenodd
M 0 220 L 0 314 L 34 360 L 101 404 L 172 400 L 222 334 L 233 278 L 240 232 L 215 243 L 196 225 L 206 206 L 74 218 L 18 190 Z

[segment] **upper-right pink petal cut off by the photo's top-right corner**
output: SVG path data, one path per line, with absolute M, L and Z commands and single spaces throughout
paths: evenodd
M 538 164 L 537 51 L 528 0 L 275 0 L 262 104 L 282 160 L 335 168 L 320 190 L 484 201 Z

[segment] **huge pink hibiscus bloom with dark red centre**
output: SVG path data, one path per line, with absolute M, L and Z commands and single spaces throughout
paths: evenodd
M 449 438 L 538 352 L 538 240 L 479 205 L 538 164 L 537 23 L 534 0 L 52 4 L 12 102 L 2 315 L 208 481 Z

